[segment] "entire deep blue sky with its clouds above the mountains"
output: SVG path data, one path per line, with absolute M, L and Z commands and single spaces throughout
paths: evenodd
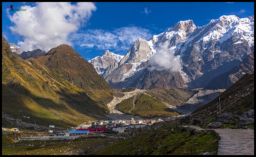
M 22 8 L 26 11 L 15 10 Z M 2 2 L 2 35 L 22 51 L 67 44 L 89 60 L 105 50 L 125 55 L 137 39 L 149 40 L 179 21 L 201 27 L 222 15 L 252 16 L 254 3 Z

